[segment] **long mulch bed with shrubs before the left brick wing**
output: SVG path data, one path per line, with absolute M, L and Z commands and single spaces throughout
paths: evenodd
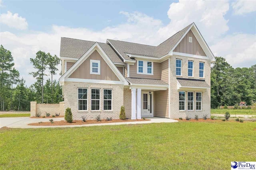
M 49 117 L 48 117 L 49 118 Z M 150 121 L 150 119 L 126 119 L 126 120 L 120 120 L 120 119 L 113 119 L 112 121 L 106 121 L 105 119 L 102 121 L 96 121 L 96 120 L 87 120 L 86 122 L 82 120 L 74 120 L 72 123 L 68 123 L 64 120 L 62 121 L 54 121 L 54 123 L 49 122 L 42 122 L 42 123 L 30 123 L 28 125 L 32 126 L 61 126 L 61 125 L 86 125 L 86 124 L 94 124 L 94 123 L 116 123 L 116 122 L 130 122 L 130 121 Z

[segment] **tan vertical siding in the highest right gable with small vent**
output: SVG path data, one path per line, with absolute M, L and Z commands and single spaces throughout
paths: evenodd
M 192 37 L 192 43 L 188 42 L 188 37 Z M 174 49 L 174 52 L 206 56 L 191 30 L 188 31 L 185 37 L 180 41 L 178 46 Z

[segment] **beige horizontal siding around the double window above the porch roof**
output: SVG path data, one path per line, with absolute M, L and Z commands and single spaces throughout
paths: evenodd
M 137 74 L 137 61 L 134 65 L 130 65 L 130 77 L 131 78 L 148 78 L 148 79 L 161 79 L 161 64 L 160 63 L 153 63 L 153 74 L 154 75 L 147 75 L 147 74 Z

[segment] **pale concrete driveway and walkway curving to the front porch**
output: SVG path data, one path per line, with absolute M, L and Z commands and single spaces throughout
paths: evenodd
M 52 118 L 54 121 L 64 120 L 64 117 Z M 117 123 L 97 123 L 97 124 L 86 124 L 86 125 L 63 125 L 63 126 L 30 126 L 29 123 L 48 122 L 46 118 L 30 118 L 30 117 L 4 117 L 0 118 L 1 127 L 11 128 L 48 128 L 48 127 L 83 127 L 83 126 L 104 126 L 104 125 L 128 125 L 128 124 L 147 124 L 147 123 L 173 123 L 178 122 L 177 120 L 161 118 L 161 117 L 148 117 L 150 121 L 130 121 L 130 122 L 117 122 Z

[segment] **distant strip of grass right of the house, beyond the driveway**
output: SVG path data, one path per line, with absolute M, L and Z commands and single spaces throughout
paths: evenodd
M 211 109 L 211 114 L 225 114 L 227 111 L 230 115 L 256 115 L 253 109 Z

